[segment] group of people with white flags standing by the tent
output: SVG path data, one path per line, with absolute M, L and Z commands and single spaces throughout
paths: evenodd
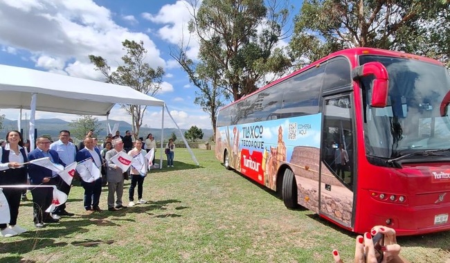
M 66 211 L 66 203 L 57 206 L 53 212 L 46 212 L 46 209 L 51 206 L 53 201 L 53 185 L 68 196 L 71 185 L 68 185 L 61 179 L 57 172 L 42 165 L 28 163 L 39 158 L 48 157 L 52 163 L 57 163 L 64 167 L 73 162 L 80 163 L 90 158 L 99 170 L 105 172 L 104 175 L 102 173 L 102 176 L 95 181 L 84 181 L 80 177 L 80 183 L 84 188 L 84 209 L 87 213 L 102 212 L 100 208 L 100 194 L 102 193 L 102 185 L 105 186 L 102 181 L 106 181 L 108 187 L 107 209 L 116 211 L 121 208 L 127 208 L 127 206 L 124 206 L 122 199 L 124 179 L 128 174 L 131 176 L 128 206 L 135 206 L 136 203 L 146 203 L 147 201 L 143 199 L 143 182 L 146 173 L 143 174 L 143 172 L 136 170 L 133 166 L 128 171 L 123 171 L 122 168 L 111 161 L 111 158 L 116 156 L 118 152 L 124 152 L 133 158 L 138 154 L 145 156 L 147 151 L 150 151 L 152 148 L 156 151 L 156 142 L 154 142 L 152 134 L 149 134 L 145 140 L 145 145 L 147 146 L 147 151 L 145 151 L 143 149 L 144 143 L 141 139 L 133 142 L 129 137 L 131 137 L 129 131 L 126 132 L 125 136 L 120 136 L 118 131 L 116 136 L 109 134 L 105 143 L 99 147 L 97 138 L 93 136 L 93 131 L 89 131 L 86 138 L 77 147 L 71 142 L 70 131 L 62 130 L 59 134 L 59 140 L 54 143 L 45 136 L 39 136 L 36 140 L 36 148 L 29 152 L 29 149 L 27 150 L 24 147 L 24 139 L 21 133 L 16 130 L 9 131 L 6 135 L 6 144 L 0 148 L 0 185 L 30 184 L 29 188 L 33 197 L 33 221 L 37 228 L 42 228 L 45 224 L 56 223 L 60 221 L 62 216 L 71 217 L 74 215 L 72 212 Z M 174 149 L 172 144 L 173 142 L 166 145 L 171 152 Z M 152 163 L 154 163 L 154 158 Z M 145 162 L 145 165 L 147 164 Z M 135 203 L 134 190 L 136 186 L 138 188 L 138 199 Z M 3 188 L 3 194 L 10 209 L 9 226 L 8 224 L 0 224 L 0 235 L 3 237 L 12 237 L 26 232 L 26 229 L 17 226 L 19 204 L 23 191 L 24 188 Z

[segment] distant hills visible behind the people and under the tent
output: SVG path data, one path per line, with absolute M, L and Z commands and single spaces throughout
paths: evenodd
M 74 117 L 75 119 L 75 117 Z M 38 119 L 35 121 L 35 128 L 37 129 L 37 134 L 49 134 L 52 136 L 52 138 L 57 138 L 59 131 L 62 129 L 68 129 L 71 130 L 69 123 L 71 121 L 61 120 L 57 118 L 51 118 L 51 119 Z M 102 140 L 107 135 L 107 125 L 106 120 L 101 120 L 98 123 L 100 123 L 100 127 L 102 127 L 102 131 L 100 132 L 99 140 Z M 119 123 L 119 131 L 120 135 L 125 135 L 126 130 L 131 130 L 132 125 L 123 121 L 123 120 L 109 120 L 109 125 L 111 125 L 111 128 L 114 126 L 115 123 Z M 11 129 L 17 129 L 17 120 L 9 120 L 5 119 L 3 121 L 3 130 L 0 131 L 0 138 L 5 138 L 6 131 L 9 131 Z M 24 130 L 24 134 L 28 134 L 28 129 L 30 128 L 29 120 L 21 121 L 21 128 Z M 204 139 L 203 140 L 209 140 L 211 136 L 213 136 L 213 129 L 201 129 L 204 133 Z M 184 133 L 186 129 L 181 129 L 181 131 Z M 177 139 L 181 139 L 181 135 L 177 128 L 164 128 L 164 137 L 167 138 L 174 132 L 177 135 Z M 153 128 L 145 128 L 141 127 L 140 137 L 145 138 L 147 134 L 152 133 L 153 136 L 157 139 L 161 139 L 161 129 L 153 129 Z

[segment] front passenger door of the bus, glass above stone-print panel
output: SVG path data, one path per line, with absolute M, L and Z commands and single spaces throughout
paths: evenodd
M 319 214 L 352 227 L 354 114 L 350 93 L 323 98 Z

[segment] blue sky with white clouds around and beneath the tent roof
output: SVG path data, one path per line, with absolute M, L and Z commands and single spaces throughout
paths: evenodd
M 188 2 L 180 0 L 2 0 L 0 64 L 100 80 L 102 76 L 93 70 L 88 55 L 105 57 L 114 66 L 124 54 L 123 40 L 142 40 L 146 62 L 165 69 L 162 89 L 154 97 L 166 102 L 181 128 L 197 125 L 210 129 L 208 114 L 193 103 L 196 88 L 170 57 L 170 48 L 189 36 L 192 9 L 188 7 Z M 298 9 L 293 14 L 296 12 Z M 198 44 L 191 41 L 188 55 L 195 59 L 197 53 Z M 17 119 L 19 111 L 1 109 L 0 114 Z M 164 126 L 174 127 L 165 116 Z M 74 120 L 78 116 L 40 111 L 36 118 Z M 131 117 L 118 106 L 110 118 L 131 123 Z M 143 125 L 161 127 L 161 109 L 148 108 Z

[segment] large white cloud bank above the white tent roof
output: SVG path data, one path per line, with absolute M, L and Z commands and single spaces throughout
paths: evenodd
M 118 26 L 111 12 L 92 0 L 0 1 L 0 44 L 29 51 L 43 66 L 60 71 L 64 62 L 69 74 L 97 75 L 88 55 L 100 55 L 111 64 L 125 51 L 125 39 L 143 41 L 150 66 L 164 66 L 158 48 L 144 33 Z M 53 58 L 50 62 L 48 57 Z M 70 64 L 69 64 L 70 62 Z M 57 67 L 55 67 L 57 66 Z

